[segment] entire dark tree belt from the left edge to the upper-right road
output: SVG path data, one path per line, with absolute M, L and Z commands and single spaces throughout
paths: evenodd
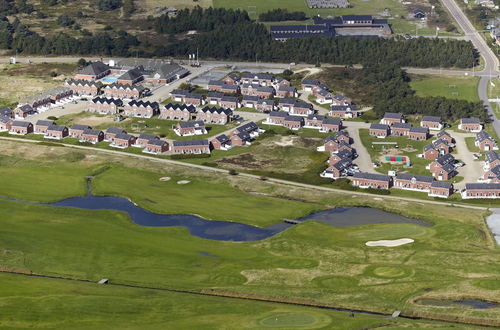
M 123 4 L 128 2 L 130 0 Z M 15 10 L 19 10 L 23 3 L 25 1 L 4 0 L 4 4 Z M 121 1 L 117 3 L 122 4 Z M 71 23 L 60 21 L 60 24 Z M 478 61 L 472 43 L 463 40 L 310 37 L 279 42 L 271 38 L 263 24 L 251 20 L 247 12 L 223 8 L 197 7 L 180 10 L 175 17 L 162 15 L 152 21 L 152 28 L 164 38 L 159 38 L 156 43 L 141 43 L 125 31 L 112 29 L 88 32 L 78 38 L 65 33 L 41 36 L 18 19 L 0 16 L 0 47 L 36 55 L 143 57 L 183 57 L 198 49 L 202 58 L 345 65 L 394 63 L 399 66 L 466 68 Z M 177 38 L 177 34 L 190 30 L 198 33 L 188 39 Z

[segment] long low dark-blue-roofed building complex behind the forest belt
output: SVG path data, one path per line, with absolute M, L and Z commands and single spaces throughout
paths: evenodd
M 333 3 L 327 0 L 308 0 L 316 3 Z M 338 3 L 347 1 L 336 0 Z M 271 36 L 275 40 L 314 36 L 387 36 L 392 34 L 386 19 L 376 19 L 370 15 L 345 15 L 336 18 L 313 18 L 314 24 L 271 25 Z

